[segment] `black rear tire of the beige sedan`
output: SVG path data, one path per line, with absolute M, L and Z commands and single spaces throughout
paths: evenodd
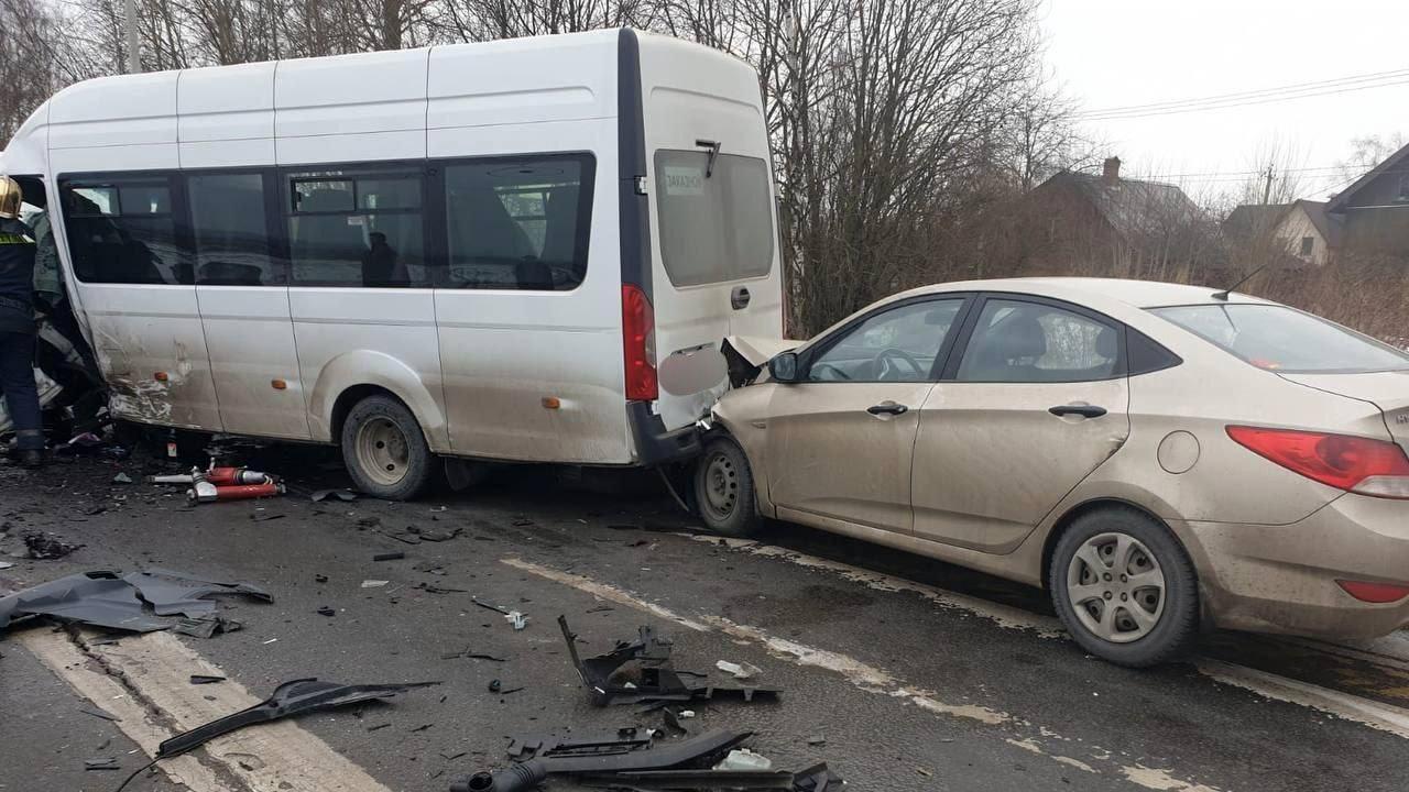
M 1120 547 L 1120 534 L 1134 538 L 1138 545 L 1129 545 L 1134 550 L 1124 568 L 1115 561 L 1115 554 L 1119 552 Z M 1098 562 L 1110 562 L 1110 578 L 1106 576 L 1106 572 L 1095 578 L 1089 576 L 1093 571 L 1093 567 L 1086 561 L 1091 558 L 1089 552 L 1074 568 L 1074 558 L 1088 545 L 1089 552 L 1096 554 Z M 1110 550 L 1109 558 L 1103 555 L 1107 548 Z M 1141 557 L 1144 558 L 1141 559 Z M 1134 582 L 1138 579 L 1136 572 L 1150 571 L 1151 561 L 1164 581 L 1162 605 L 1160 606 L 1151 605 L 1148 599 L 1154 596 L 1153 586 L 1131 588 L 1137 585 Z M 1127 578 L 1123 572 L 1130 572 L 1130 576 Z M 1116 665 L 1146 668 L 1171 662 L 1188 654 L 1198 638 L 1199 579 L 1193 562 L 1179 540 L 1169 533 L 1169 528 L 1134 509 L 1112 506 L 1076 517 L 1057 541 L 1047 581 L 1053 606 L 1071 637 L 1088 652 Z M 1072 605 L 1069 583 L 1085 583 L 1085 586 L 1098 586 L 1106 590 L 1092 592 L 1091 599 L 1078 606 Z M 1081 589 L 1076 590 L 1079 595 Z M 1088 590 L 1091 589 L 1088 588 Z M 1107 590 L 1110 596 L 1106 596 Z M 1141 607 L 1140 602 L 1144 603 L 1141 614 L 1154 619 L 1150 627 L 1141 627 L 1130 610 Z M 1078 607 L 1084 609 L 1085 616 L 1078 614 Z M 1098 633 L 1107 607 L 1115 607 L 1112 626 L 1107 627 L 1113 631 L 1113 640 Z M 1088 626 L 1088 623 L 1093 626 Z

